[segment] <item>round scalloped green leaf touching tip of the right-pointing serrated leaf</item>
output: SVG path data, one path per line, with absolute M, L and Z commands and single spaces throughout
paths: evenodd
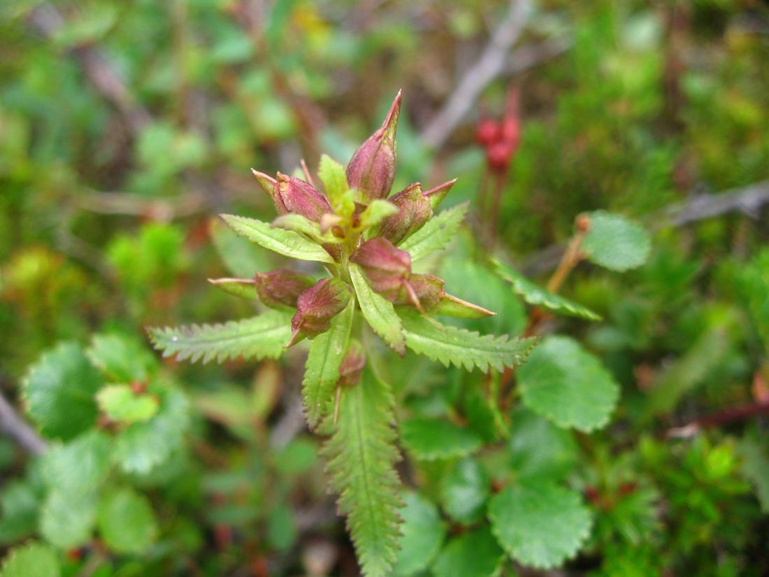
M 609 422 L 619 385 L 601 362 L 574 339 L 544 339 L 518 369 L 524 405 L 561 427 L 583 432 Z

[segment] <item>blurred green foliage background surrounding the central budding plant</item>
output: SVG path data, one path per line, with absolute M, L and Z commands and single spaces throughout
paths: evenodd
M 215 215 L 269 221 L 249 169 L 288 172 L 305 158 L 314 172 L 321 152 L 345 163 L 399 88 L 395 190 L 458 177 L 445 204 L 471 201 L 474 232 L 424 262 L 449 292 L 499 313 L 460 328 L 524 332 L 531 305 L 551 299 L 529 281 L 547 282 L 558 263 L 548 247 L 568 240 L 575 215 L 621 213 L 654 234 L 646 264 L 623 275 L 614 271 L 638 263 L 601 262 L 607 240 L 588 243 L 593 258 L 553 305 L 565 316 L 546 327 L 560 335 L 534 349 L 541 359 L 514 375 L 501 408 L 488 403 L 493 378 L 388 360 L 409 488 L 395 571 L 551 565 L 520 528 L 566 512 L 578 539 L 542 546 L 558 559 L 579 550 L 568 574 L 769 572 L 769 202 L 675 217 L 695 215 L 694 195 L 757 186 L 769 198 L 767 8 L 538 2 L 511 56 L 533 64 L 495 78 L 448 142 L 425 145 L 424 128 L 507 11 L 427 0 L 2 3 L 0 391 L 49 449 L 32 458 L 0 437 L 0 552 L 15 547 L 0 575 L 32 575 L 28 559 L 39 575 L 358 574 L 301 419 L 305 353 L 175 364 L 151 352 L 144 328 L 253 315 L 206 279 L 283 261 Z M 521 143 L 495 252 L 526 278 L 503 280 L 475 240 L 492 225 L 477 208 L 485 161 L 474 127 L 502 114 L 510 85 L 521 90 Z M 576 381 L 564 356 L 584 371 Z M 578 395 L 576 410 L 548 420 L 535 414 L 547 412 L 541 379 L 563 395 L 584 380 L 604 394 Z M 588 434 L 601 403 L 613 406 L 605 379 L 621 385 L 618 405 Z M 120 401 L 136 384 L 142 401 Z M 554 511 L 521 506 L 532 486 Z

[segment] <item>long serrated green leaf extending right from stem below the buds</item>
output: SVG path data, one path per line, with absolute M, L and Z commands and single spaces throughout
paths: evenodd
M 537 339 L 508 339 L 507 335 L 478 335 L 453 326 L 441 325 L 417 312 L 401 310 L 406 345 L 418 355 L 448 367 L 453 364 L 471 371 L 478 367 L 488 372 L 492 367 L 501 371 L 526 360 Z

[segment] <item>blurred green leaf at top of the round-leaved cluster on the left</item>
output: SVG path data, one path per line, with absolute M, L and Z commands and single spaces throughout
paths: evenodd
M 87 354 L 112 382 L 145 381 L 157 368 L 143 343 L 123 335 L 95 335 Z

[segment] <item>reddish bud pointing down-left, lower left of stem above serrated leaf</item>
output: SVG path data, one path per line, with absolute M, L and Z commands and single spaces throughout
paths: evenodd
M 328 331 L 331 319 L 350 302 L 351 288 L 338 278 L 321 278 L 297 299 L 297 312 L 291 319 L 291 340 L 288 348 L 304 339 L 314 339 Z

